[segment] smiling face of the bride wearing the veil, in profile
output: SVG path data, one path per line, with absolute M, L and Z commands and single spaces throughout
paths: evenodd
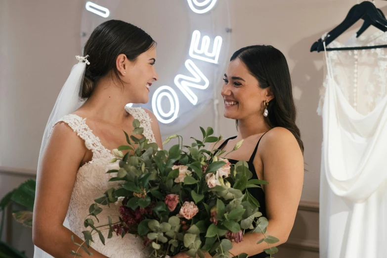
M 154 64 L 156 49 L 151 47 L 140 54 L 134 61 L 126 60 L 128 69 L 125 69 L 124 81 L 128 82 L 127 92 L 132 103 L 147 103 L 149 101 L 149 87 L 159 80 Z

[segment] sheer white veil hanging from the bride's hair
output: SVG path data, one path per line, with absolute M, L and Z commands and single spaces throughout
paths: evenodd
M 82 84 L 85 76 L 86 64 L 90 64 L 87 61 L 88 55 L 85 57 L 77 55 L 76 58 L 79 63 L 74 65 L 71 69 L 71 73 L 63 85 L 58 98 L 56 99 L 54 108 L 51 111 L 51 115 L 48 118 L 47 125 L 44 129 L 42 146 L 39 153 L 38 161 L 38 174 L 37 179 L 40 175 L 40 167 L 43 158 L 44 149 L 47 145 L 48 137 L 51 133 L 52 128 L 63 116 L 73 113 L 80 106 L 82 106 Z M 69 222 L 66 220 L 63 223 L 64 226 L 69 228 Z M 34 258 L 52 258 L 49 254 L 44 252 L 42 249 L 35 246 Z

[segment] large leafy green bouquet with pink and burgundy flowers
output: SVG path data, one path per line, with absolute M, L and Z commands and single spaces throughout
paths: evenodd
M 133 122 L 133 134 L 142 134 L 140 122 Z M 244 161 L 231 165 L 227 159 L 219 158 L 224 151 L 204 149 L 205 143 L 217 142 L 212 128 L 200 128 L 203 140 L 193 138 L 191 146 L 184 146 L 179 135 L 168 137 L 165 142 L 177 138 L 178 144 L 169 151 L 158 150 L 156 143 L 138 139 L 125 132 L 128 145 L 113 151 L 107 173 L 114 173 L 109 181 L 120 181 L 118 188 L 107 189 L 103 196 L 94 199 L 83 231 L 86 246 L 93 241 L 96 232 L 104 243 L 104 236 L 94 226 L 102 207 L 122 202 L 117 211 L 119 221 L 109 217 L 108 238 L 113 233 L 125 237 L 134 234 L 143 239 L 144 248 L 152 249 L 153 258 L 172 257 L 186 252 L 190 257 L 204 258 L 204 253 L 217 258 L 246 258 L 247 254 L 232 254 L 232 243 L 243 241 L 249 232 L 262 233 L 262 239 L 270 255 L 278 250 L 269 244 L 278 239 L 266 235 L 268 221 L 258 211 L 258 201 L 249 193 L 249 188 L 266 183 L 251 179 L 252 172 Z M 181 139 L 181 141 L 180 141 Z M 242 144 L 238 142 L 233 150 Z M 123 150 L 131 153 L 123 154 Z M 113 174 L 112 174 L 113 175 Z M 90 228 L 90 230 L 87 230 Z M 74 239 L 73 239 L 74 241 Z M 76 243 L 87 254 L 83 244 Z M 77 252 L 72 252 L 80 256 Z

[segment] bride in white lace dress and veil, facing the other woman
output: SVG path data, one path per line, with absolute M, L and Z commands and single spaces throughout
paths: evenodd
M 34 206 L 34 258 L 74 257 L 74 241 L 82 243 L 84 220 L 93 199 L 114 187 L 106 165 L 113 149 L 126 145 L 123 130 L 138 119 L 142 136 L 162 147 L 156 117 L 127 103 L 147 103 L 149 86 L 158 80 L 155 42 L 140 28 L 118 20 L 99 25 L 88 39 L 84 57 L 71 71 L 48 120 L 38 164 Z M 86 101 L 84 101 L 86 100 Z M 141 137 L 141 135 L 136 135 Z M 95 225 L 118 219 L 118 206 L 104 207 Z M 66 223 L 67 222 L 67 223 Z M 67 227 L 64 225 L 67 224 Z M 103 232 L 104 233 L 104 232 Z M 132 235 L 98 237 L 89 249 L 94 258 L 147 257 Z M 83 257 L 88 255 L 78 251 Z

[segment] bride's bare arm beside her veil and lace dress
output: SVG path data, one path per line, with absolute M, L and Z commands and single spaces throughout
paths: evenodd
M 86 154 L 84 141 L 65 123 L 57 124 L 48 140 L 37 177 L 34 205 L 33 242 L 55 258 L 72 258 L 72 250 L 82 243 L 76 234 L 63 226 L 76 175 Z M 86 245 L 85 245 L 86 246 Z M 106 258 L 89 249 L 94 258 Z M 79 253 L 88 256 L 82 248 Z

